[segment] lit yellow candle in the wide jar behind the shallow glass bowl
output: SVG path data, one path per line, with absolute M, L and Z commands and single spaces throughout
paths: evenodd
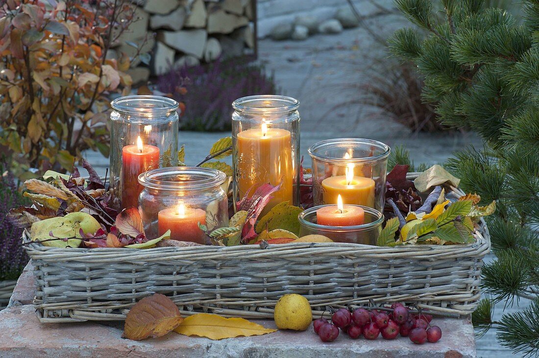
M 344 176 L 329 177 L 322 180 L 323 203 L 337 203 L 337 196 L 347 204 L 363 205 L 374 208 L 375 181 L 371 178 L 354 175 L 354 164 L 348 164 Z

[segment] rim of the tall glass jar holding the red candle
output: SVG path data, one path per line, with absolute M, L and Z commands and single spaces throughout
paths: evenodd
M 168 115 L 176 111 L 178 106 L 179 103 L 171 98 L 147 95 L 122 96 L 110 102 L 110 107 L 116 111 L 148 118 L 145 123 L 161 122 L 163 119 L 155 116 Z

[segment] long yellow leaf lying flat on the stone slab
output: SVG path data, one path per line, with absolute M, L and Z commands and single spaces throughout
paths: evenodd
M 224 318 L 217 314 L 197 313 L 185 318 L 174 332 L 196 335 L 213 340 L 272 333 L 277 329 L 263 326 L 243 318 Z

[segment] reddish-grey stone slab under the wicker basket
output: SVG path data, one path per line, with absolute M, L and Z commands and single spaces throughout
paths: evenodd
M 257 321 L 274 328 L 273 321 Z M 472 358 L 475 342 L 468 319 L 436 319 L 444 332 L 437 343 L 414 345 L 409 339 L 351 340 L 340 335 L 323 343 L 309 328 L 305 332 L 278 331 L 244 338 L 212 341 L 171 332 L 144 341 L 122 339 L 122 324 L 82 322 L 39 324 L 31 305 L 12 306 L 0 312 L 0 356 L 33 357 L 403 357 Z

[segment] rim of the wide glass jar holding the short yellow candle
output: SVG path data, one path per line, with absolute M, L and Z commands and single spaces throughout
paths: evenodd
M 341 158 L 341 157 L 329 157 L 324 156 L 319 153 L 319 151 L 322 148 L 326 148 L 328 146 L 333 146 L 336 144 L 367 144 L 376 146 L 376 148 L 382 150 L 382 153 L 377 154 L 375 156 L 369 156 L 369 157 L 362 157 L 362 158 Z M 321 160 L 323 162 L 327 163 L 342 163 L 343 165 L 347 163 L 373 163 L 378 162 L 379 160 L 383 160 L 387 157 L 389 157 L 389 153 L 391 152 L 391 148 L 389 148 L 389 145 L 384 144 L 382 142 L 375 141 L 374 139 L 365 139 L 365 138 L 335 138 L 335 139 L 326 139 L 325 141 L 317 142 L 313 145 L 311 145 L 307 151 L 309 153 L 309 156 L 313 159 Z

